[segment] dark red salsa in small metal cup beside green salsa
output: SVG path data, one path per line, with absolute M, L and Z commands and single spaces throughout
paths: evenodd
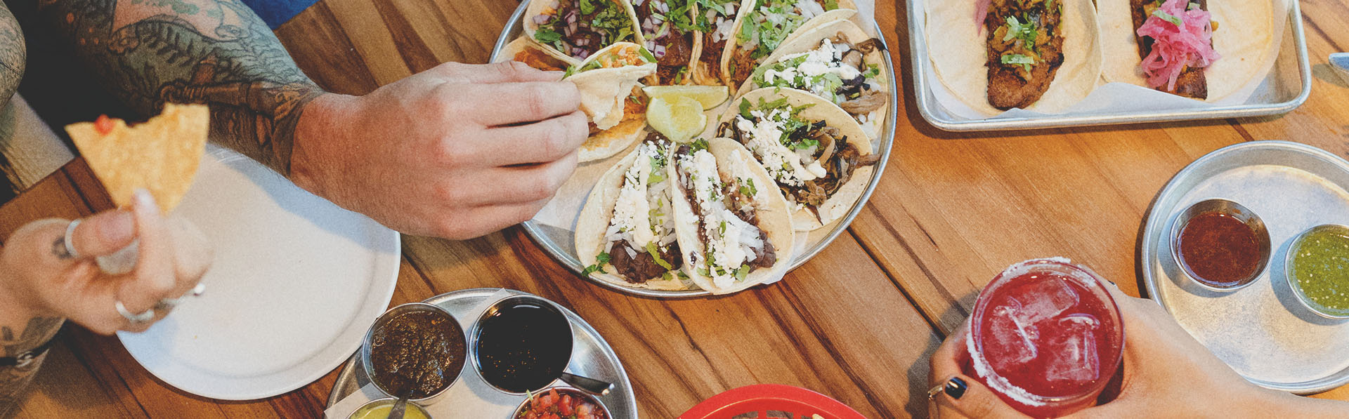
M 1260 268 L 1256 232 L 1232 214 L 1209 212 L 1190 218 L 1179 245 L 1180 263 L 1209 286 L 1238 286 Z

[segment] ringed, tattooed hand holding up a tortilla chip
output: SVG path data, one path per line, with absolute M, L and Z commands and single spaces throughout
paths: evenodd
M 142 331 L 169 314 L 161 304 L 147 322 L 132 323 L 117 313 L 121 304 L 132 314 L 146 313 L 161 300 L 188 294 L 210 265 L 212 248 L 192 224 L 165 218 L 144 190 L 138 190 L 131 210 L 111 210 L 82 220 L 71 241 L 78 259 L 70 257 L 63 237 L 67 220 L 34 221 L 9 236 L 0 249 L 0 322 L 15 330 L 32 318 L 67 318 L 96 333 Z M 135 268 L 125 275 L 107 275 L 96 256 L 111 255 L 139 240 Z

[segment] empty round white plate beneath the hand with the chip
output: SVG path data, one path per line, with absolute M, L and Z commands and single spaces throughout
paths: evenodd
M 208 146 L 175 210 L 216 259 L 206 292 L 150 330 L 117 333 L 150 373 L 224 400 L 304 387 L 360 348 L 398 280 L 398 233 Z

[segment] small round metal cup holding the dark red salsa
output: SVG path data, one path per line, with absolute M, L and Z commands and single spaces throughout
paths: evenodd
M 1187 264 L 1184 257 L 1180 256 L 1180 233 L 1184 232 L 1190 220 L 1207 213 L 1232 216 L 1237 218 L 1237 221 L 1244 222 L 1248 228 L 1251 228 L 1251 232 L 1256 234 L 1256 248 L 1260 252 L 1260 264 L 1256 265 L 1256 269 L 1251 272 L 1249 276 L 1237 280 L 1236 284 L 1229 287 L 1219 287 L 1201 280 L 1199 275 L 1190 271 L 1190 264 Z M 1184 276 L 1190 279 L 1190 283 L 1215 292 L 1237 291 L 1255 283 L 1256 278 L 1260 278 L 1260 273 L 1264 273 L 1265 267 L 1269 265 L 1269 230 L 1265 229 L 1264 221 L 1260 220 L 1260 216 L 1256 216 L 1255 212 L 1241 203 L 1219 198 L 1199 201 L 1180 212 L 1180 214 L 1176 216 L 1175 224 L 1171 225 L 1171 256 L 1175 257 L 1176 265 L 1179 265 L 1180 271 L 1184 272 Z

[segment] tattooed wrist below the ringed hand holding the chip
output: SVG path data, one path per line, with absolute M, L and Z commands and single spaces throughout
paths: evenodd
M 18 357 L 51 340 L 61 330 L 61 318 L 34 317 L 27 322 L 0 321 L 0 357 Z M 13 325 L 11 325 L 13 323 Z M 5 416 L 19 403 L 23 389 L 32 381 L 46 353 L 15 366 L 0 366 L 0 416 Z

